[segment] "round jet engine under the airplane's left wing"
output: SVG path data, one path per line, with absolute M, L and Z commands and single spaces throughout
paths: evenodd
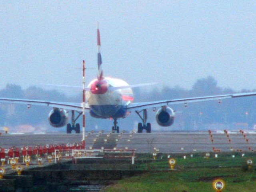
M 53 127 L 63 127 L 68 123 L 68 112 L 64 109 L 54 108 L 50 111 L 48 120 Z

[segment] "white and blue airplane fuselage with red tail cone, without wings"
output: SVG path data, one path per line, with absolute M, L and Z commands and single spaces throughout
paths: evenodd
M 95 118 L 124 118 L 129 113 L 126 106 L 134 100 L 131 88 L 111 90 L 112 87 L 128 86 L 123 80 L 103 78 L 92 80 L 86 92 L 90 115 Z

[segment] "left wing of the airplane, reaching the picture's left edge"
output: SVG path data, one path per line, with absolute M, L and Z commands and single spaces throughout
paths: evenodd
M 28 106 L 41 105 L 41 106 L 62 108 L 62 109 L 67 109 L 67 110 L 82 111 L 82 104 L 81 103 L 54 102 L 54 101 L 14 99 L 14 98 L 0 98 L 0 102 L 16 103 L 16 104 L 27 104 Z M 85 109 L 90 110 L 87 103 L 85 104 Z

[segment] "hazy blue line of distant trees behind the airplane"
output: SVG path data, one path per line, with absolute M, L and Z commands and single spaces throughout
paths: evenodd
M 256 91 L 256 90 L 253 90 Z M 250 92 L 250 90 L 242 90 L 242 92 Z M 185 90 L 179 86 L 170 88 L 168 86 L 152 86 L 151 90 L 144 88 L 134 88 L 134 102 L 156 101 L 175 98 L 187 98 L 194 96 L 206 96 L 215 94 L 235 93 L 232 89 L 220 88 L 217 81 L 208 76 L 199 79 L 192 86 L 191 90 Z M 51 100 L 60 102 L 81 102 L 82 95 L 78 93 L 76 96 L 67 96 L 56 90 L 44 90 L 36 86 L 22 89 L 15 84 L 7 84 L 6 88 L 0 90 L 0 97 L 8 98 L 25 98 L 36 100 Z M 256 124 L 256 98 L 235 98 L 223 100 L 221 104 L 217 101 L 195 102 L 184 105 L 170 106 L 176 110 L 177 118 L 173 126 L 162 128 L 155 121 L 155 112 L 148 110 L 148 122 L 152 123 L 152 130 L 202 130 L 208 129 L 209 126 L 220 125 L 229 126 L 230 128 L 236 123 L 246 123 L 249 127 Z M 30 124 L 36 128 L 46 126 L 48 130 L 65 131 L 66 128 L 52 128 L 48 124 L 48 113 L 51 108 L 44 106 L 32 106 L 30 109 L 23 104 L 0 103 L 0 126 L 10 126 L 13 129 L 21 124 Z M 118 120 L 121 130 L 136 129 L 136 124 L 131 122 L 139 122 L 140 118 L 133 113 L 130 117 Z M 79 119 L 81 123 L 81 119 Z M 94 119 L 86 114 L 87 130 L 98 128 L 98 130 L 110 130 L 112 121 Z

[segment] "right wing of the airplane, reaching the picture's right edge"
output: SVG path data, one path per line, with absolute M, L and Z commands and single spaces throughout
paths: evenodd
M 155 101 L 155 102 L 130 103 L 127 106 L 127 110 L 128 111 L 144 110 L 144 109 L 148 109 L 148 108 L 166 106 L 169 104 L 185 104 L 185 105 L 187 105 L 190 102 L 209 101 L 209 100 L 220 100 L 221 101 L 221 99 L 246 97 L 246 96 L 256 96 L 256 92 L 203 96 L 203 97 L 194 97 L 194 98 L 182 98 L 182 99 Z

